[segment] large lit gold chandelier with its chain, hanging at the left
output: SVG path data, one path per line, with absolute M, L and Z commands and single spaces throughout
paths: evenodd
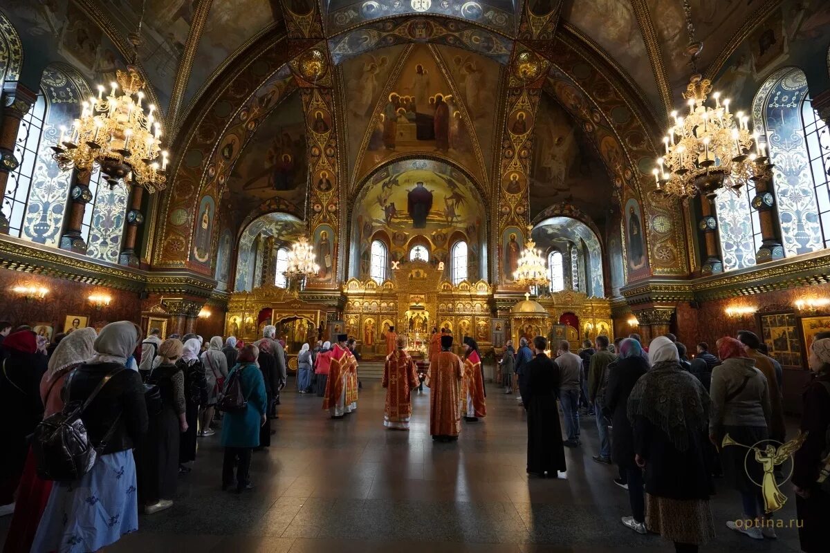
M 148 113 L 144 114 L 141 102 L 146 83 L 135 67 L 145 6 L 146 0 L 138 29 L 129 35 L 133 61 L 127 70 L 115 72 L 117 82 L 110 83 L 108 95 L 105 96 L 105 86 L 98 85 L 98 97 L 90 96 L 81 104 L 81 117 L 75 119 L 70 129 L 61 126 L 61 136 L 52 150 L 64 171 L 72 167 L 91 171 L 97 163 L 110 188 L 119 179 L 126 179 L 153 193 L 163 190 L 167 182 L 168 153 L 161 149 L 161 123 L 155 117 L 156 107 L 149 104 Z

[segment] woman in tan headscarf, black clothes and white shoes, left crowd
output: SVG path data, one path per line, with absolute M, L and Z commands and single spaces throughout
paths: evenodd
M 149 415 L 149 428 L 139 458 L 139 497 L 144 513 L 164 511 L 173 506 L 178 480 L 178 454 L 181 434 L 188 431 L 184 373 L 176 365 L 182 357 L 183 344 L 168 338 L 159 346 L 159 366 L 147 377 L 147 384 L 159 386 L 161 410 Z

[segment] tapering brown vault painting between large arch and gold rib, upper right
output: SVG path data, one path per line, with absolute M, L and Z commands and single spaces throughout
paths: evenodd
M 680 5 L 680 2 L 675 3 Z M 634 82 L 640 86 L 643 95 L 653 105 L 662 105 L 652 67 L 646 62 L 646 43 L 637 25 L 632 2 L 564 0 L 562 17 L 597 41 L 608 56 L 612 56 L 623 70 L 631 75 Z M 660 18 L 657 21 L 660 21 Z M 597 22 L 602 24 L 598 25 Z

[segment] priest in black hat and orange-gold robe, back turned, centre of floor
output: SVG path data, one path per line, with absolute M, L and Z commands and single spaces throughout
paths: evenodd
M 461 357 L 450 351 L 452 336 L 441 337 L 441 352 L 429 363 L 429 433 L 432 439 L 448 442 L 461 432 Z

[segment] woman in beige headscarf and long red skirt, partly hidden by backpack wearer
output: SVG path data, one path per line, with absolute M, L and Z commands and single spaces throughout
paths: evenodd
M 63 409 L 61 389 L 66 375 L 84 361 L 89 361 L 94 354 L 92 343 L 95 342 L 95 329 L 91 327 L 79 328 L 76 332 L 62 340 L 49 358 L 49 366 L 41 378 L 41 400 L 45 410 L 43 418 L 53 415 Z M 37 463 L 32 450 L 26 458 L 26 466 L 20 486 L 17 488 L 17 504 L 14 509 L 12 525 L 6 536 L 4 553 L 14 551 L 30 551 L 32 540 L 35 538 L 37 525 L 41 521 L 41 513 L 51 493 L 51 480 L 41 480 L 37 477 Z

